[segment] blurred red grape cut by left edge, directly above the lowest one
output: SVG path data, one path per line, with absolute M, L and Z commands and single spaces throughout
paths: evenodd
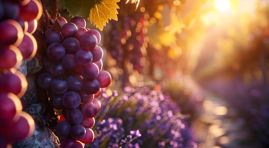
M 0 124 L 10 123 L 19 119 L 22 105 L 13 93 L 0 93 Z

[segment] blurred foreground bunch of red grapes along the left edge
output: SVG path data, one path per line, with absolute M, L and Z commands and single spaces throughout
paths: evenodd
M 19 100 L 28 84 L 17 68 L 22 60 L 36 54 L 32 34 L 41 15 L 37 0 L 0 0 L 0 147 L 26 139 L 34 132 L 34 120 L 22 112 Z

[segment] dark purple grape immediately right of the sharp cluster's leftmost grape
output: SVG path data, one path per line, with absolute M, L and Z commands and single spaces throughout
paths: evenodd
M 54 79 L 51 83 L 51 90 L 58 95 L 64 94 L 67 91 L 67 89 L 68 89 L 67 82 L 62 78 Z

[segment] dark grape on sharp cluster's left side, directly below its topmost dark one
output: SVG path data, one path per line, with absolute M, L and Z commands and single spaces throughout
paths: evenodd
M 65 53 L 65 48 L 60 43 L 52 43 L 47 48 L 47 55 L 51 60 L 61 60 Z

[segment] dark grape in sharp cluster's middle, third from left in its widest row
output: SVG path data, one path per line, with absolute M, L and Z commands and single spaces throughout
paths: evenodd
M 67 78 L 68 89 L 71 91 L 79 92 L 83 87 L 83 79 L 79 75 L 72 75 Z

